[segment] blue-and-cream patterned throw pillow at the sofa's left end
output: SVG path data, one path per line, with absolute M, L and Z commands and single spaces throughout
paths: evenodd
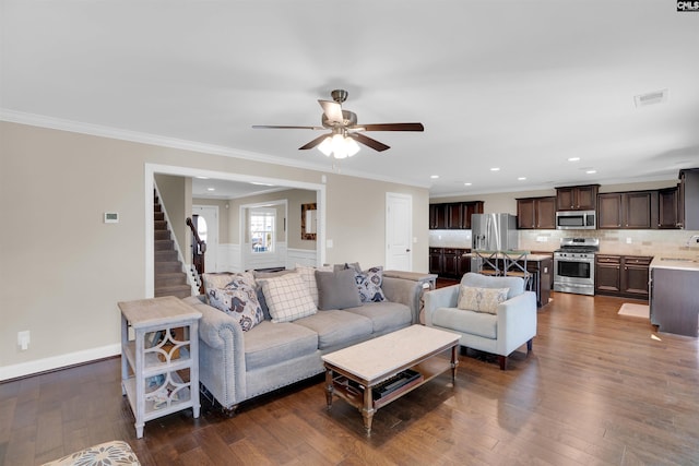
M 206 290 L 209 303 L 230 315 L 244 332 L 264 320 L 258 301 L 254 282 L 244 275 L 235 275 L 224 288 Z

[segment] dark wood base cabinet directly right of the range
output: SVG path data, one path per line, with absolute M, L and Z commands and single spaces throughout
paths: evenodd
M 653 258 L 645 255 L 595 256 L 595 292 L 648 299 L 649 266 Z

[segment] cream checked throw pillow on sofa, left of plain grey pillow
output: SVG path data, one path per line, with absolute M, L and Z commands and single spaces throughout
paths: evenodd
M 308 288 L 297 273 L 276 278 L 262 278 L 262 292 L 272 322 L 291 322 L 318 312 Z

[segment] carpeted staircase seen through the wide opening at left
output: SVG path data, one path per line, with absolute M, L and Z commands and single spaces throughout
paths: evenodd
M 187 284 L 187 274 L 182 272 L 182 263 L 177 258 L 175 241 L 170 239 L 170 230 L 165 220 L 165 213 L 156 194 L 153 200 L 155 229 L 155 297 L 176 296 L 186 298 L 192 295 Z

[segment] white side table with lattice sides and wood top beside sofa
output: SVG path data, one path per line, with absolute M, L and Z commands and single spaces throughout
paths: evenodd
M 137 438 L 146 421 L 192 408 L 199 417 L 199 319 L 173 296 L 119 302 L 121 392 L 135 417 Z M 129 326 L 134 339 L 129 339 Z M 175 328 L 183 328 L 175 336 Z

